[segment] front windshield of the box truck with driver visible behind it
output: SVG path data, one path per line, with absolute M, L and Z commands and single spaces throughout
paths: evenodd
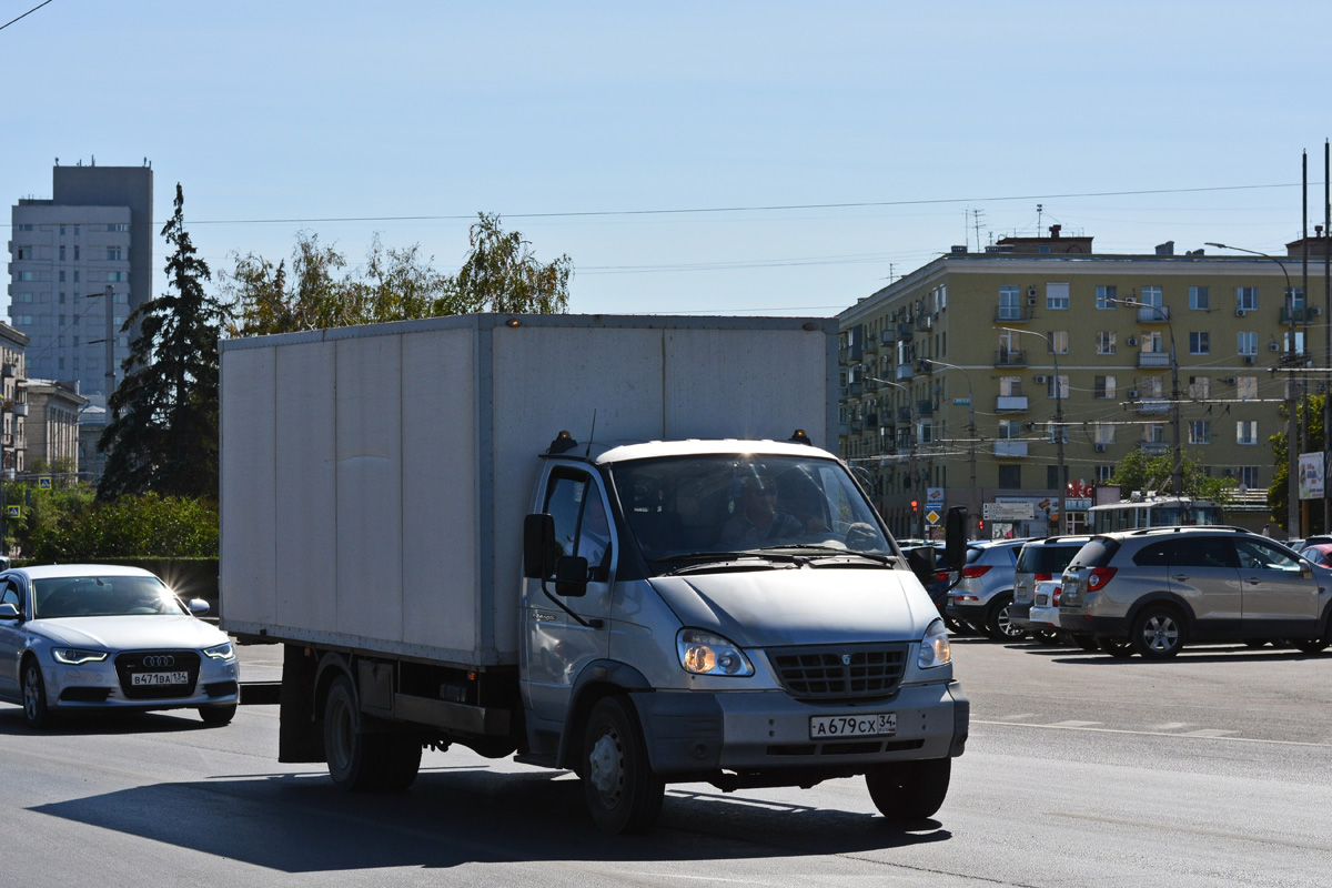
M 831 459 L 705 454 L 614 463 L 610 474 L 649 562 L 793 549 L 895 554 Z

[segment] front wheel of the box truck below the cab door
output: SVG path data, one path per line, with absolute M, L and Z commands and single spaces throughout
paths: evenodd
M 638 715 L 626 698 L 607 696 L 593 707 L 579 776 L 587 809 L 602 831 L 643 832 L 657 823 L 666 784 L 653 774 Z

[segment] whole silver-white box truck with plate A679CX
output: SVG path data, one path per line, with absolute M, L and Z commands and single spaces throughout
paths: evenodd
M 285 644 L 282 762 L 424 746 L 943 803 L 968 702 L 835 446 L 830 318 L 480 314 L 221 343 L 221 623 Z M 793 430 L 797 431 L 793 435 Z

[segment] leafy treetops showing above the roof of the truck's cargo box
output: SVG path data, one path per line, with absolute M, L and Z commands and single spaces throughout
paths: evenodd
M 567 256 L 539 262 L 517 232 L 505 232 L 498 216 L 482 213 L 470 229 L 462 269 L 445 274 L 418 245 L 385 248 L 376 236 L 365 264 L 349 268 L 346 256 L 301 232 L 286 261 L 234 256 L 222 276 L 233 306 L 232 335 L 321 330 L 356 324 L 409 321 L 472 312 L 565 312 L 569 306 Z

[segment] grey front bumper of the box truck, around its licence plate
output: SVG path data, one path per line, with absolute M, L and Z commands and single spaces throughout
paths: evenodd
M 910 684 L 888 700 L 806 703 L 782 691 L 657 691 L 631 695 L 653 771 L 856 768 L 962 755 L 971 702 L 958 682 Z M 814 719 L 891 712 L 888 735 L 815 738 Z

